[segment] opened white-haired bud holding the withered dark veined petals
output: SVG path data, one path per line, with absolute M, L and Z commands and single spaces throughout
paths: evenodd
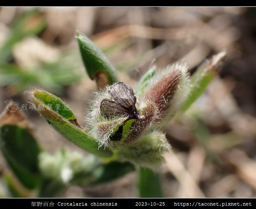
M 112 146 L 112 141 L 126 144 L 154 123 L 157 105 L 151 100 L 139 101 L 137 110 L 136 102 L 132 88 L 123 82 L 95 94 L 86 120 L 90 124 L 90 133 L 99 140 L 99 146 Z

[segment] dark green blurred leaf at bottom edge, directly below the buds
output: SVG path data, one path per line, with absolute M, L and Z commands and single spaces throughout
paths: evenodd
M 140 167 L 139 170 L 140 198 L 162 198 L 160 174 L 151 169 Z

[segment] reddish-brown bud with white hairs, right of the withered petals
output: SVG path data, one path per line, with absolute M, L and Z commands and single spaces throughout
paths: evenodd
M 159 118 L 169 119 L 184 101 L 189 90 L 186 62 L 175 63 L 157 71 L 148 82 L 145 98 L 158 105 Z

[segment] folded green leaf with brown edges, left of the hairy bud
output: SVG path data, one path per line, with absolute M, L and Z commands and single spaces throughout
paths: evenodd
M 38 112 L 62 136 L 89 153 L 99 157 L 111 157 L 112 152 L 108 148 L 99 147 L 96 139 L 81 129 L 74 113 L 57 96 L 44 90 L 33 90 L 31 99 Z

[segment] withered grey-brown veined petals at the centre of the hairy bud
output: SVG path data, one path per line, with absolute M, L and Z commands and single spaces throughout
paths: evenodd
M 123 126 L 128 120 L 139 119 L 135 107 L 136 96 L 133 89 L 124 82 L 111 85 L 109 90 L 110 99 L 103 99 L 100 104 L 100 111 L 107 119 L 118 115 L 127 116 L 127 119 L 119 126 L 118 130 L 110 136 L 111 141 L 119 141 L 122 138 Z

